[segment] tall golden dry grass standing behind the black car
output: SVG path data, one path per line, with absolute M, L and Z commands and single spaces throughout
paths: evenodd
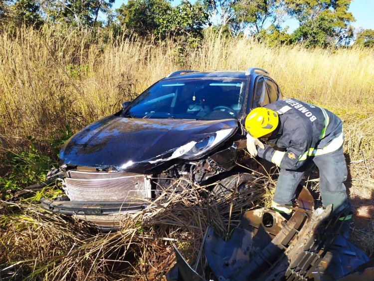
M 97 42 L 76 30 L 20 29 L 0 35 L 0 132 L 45 136 L 80 128 L 176 69 L 267 69 L 286 96 L 361 117 L 374 101 L 374 51 L 271 49 L 249 39 L 210 34 L 196 49 L 129 39 Z

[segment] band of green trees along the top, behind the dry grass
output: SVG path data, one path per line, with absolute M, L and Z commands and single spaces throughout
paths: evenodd
M 88 30 L 104 44 L 109 38 L 135 36 L 173 38 L 192 47 L 200 44 L 210 19 L 216 25 L 210 31 L 223 37 L 249 34 L 270 46 L 292 41 L 306 47 L 336 47 L 349 45 L 354 35 L 350 23 L 355 19 L 348 11 L 352 0 L 182 0 L 177 6 L 170 0 L 128 0 L 113 12 L 114 1 L 0 0 L 0 26 L 73 26 Z M 280 25 L 286 12 L 300 24 L 292 37 Z M 357 44 L 372 46 L 370 35 L 362 39 L 365 36 L 358 35 Z M 76 66 L 68 72 L 72 77 L 82 74 Z

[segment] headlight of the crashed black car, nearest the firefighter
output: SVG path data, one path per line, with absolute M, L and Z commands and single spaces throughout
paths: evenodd
M 214 134 L 200 140 L 199 142 L 196 142 L 190 150 L 183 153 L 181 158 L 195 158 L 197 156 L 200 156 L 207 150 L 213 148 L 214 146 L 218 145 L 226 138 L 231 136 L 234 130 L 235 128 L 219 130 Z

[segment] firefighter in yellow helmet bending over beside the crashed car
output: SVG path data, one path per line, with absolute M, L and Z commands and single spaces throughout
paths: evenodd
M 347 179 L 343 123 L 338 116 L 292 98 L 254 108 L 245 119 L 245 127 L 249 153 L 280 168 L 272 201 L 275 211 L 292 212 L 283 206 L 292 206 L 308 160 L 313 160 L 320 171 L 322 203 L 333 204 L 334 210 L 345 203 L 350 206 L 343 183 Z M 350 214 L 342 220 L 351 217 Z

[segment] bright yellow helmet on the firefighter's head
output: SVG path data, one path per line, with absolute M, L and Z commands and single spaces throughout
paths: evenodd
M 278 123 L 278 114 L 266 107 L 256 107 L 245 118 L 245 128 L 254 138 L 271 133 L 277 128 Z

